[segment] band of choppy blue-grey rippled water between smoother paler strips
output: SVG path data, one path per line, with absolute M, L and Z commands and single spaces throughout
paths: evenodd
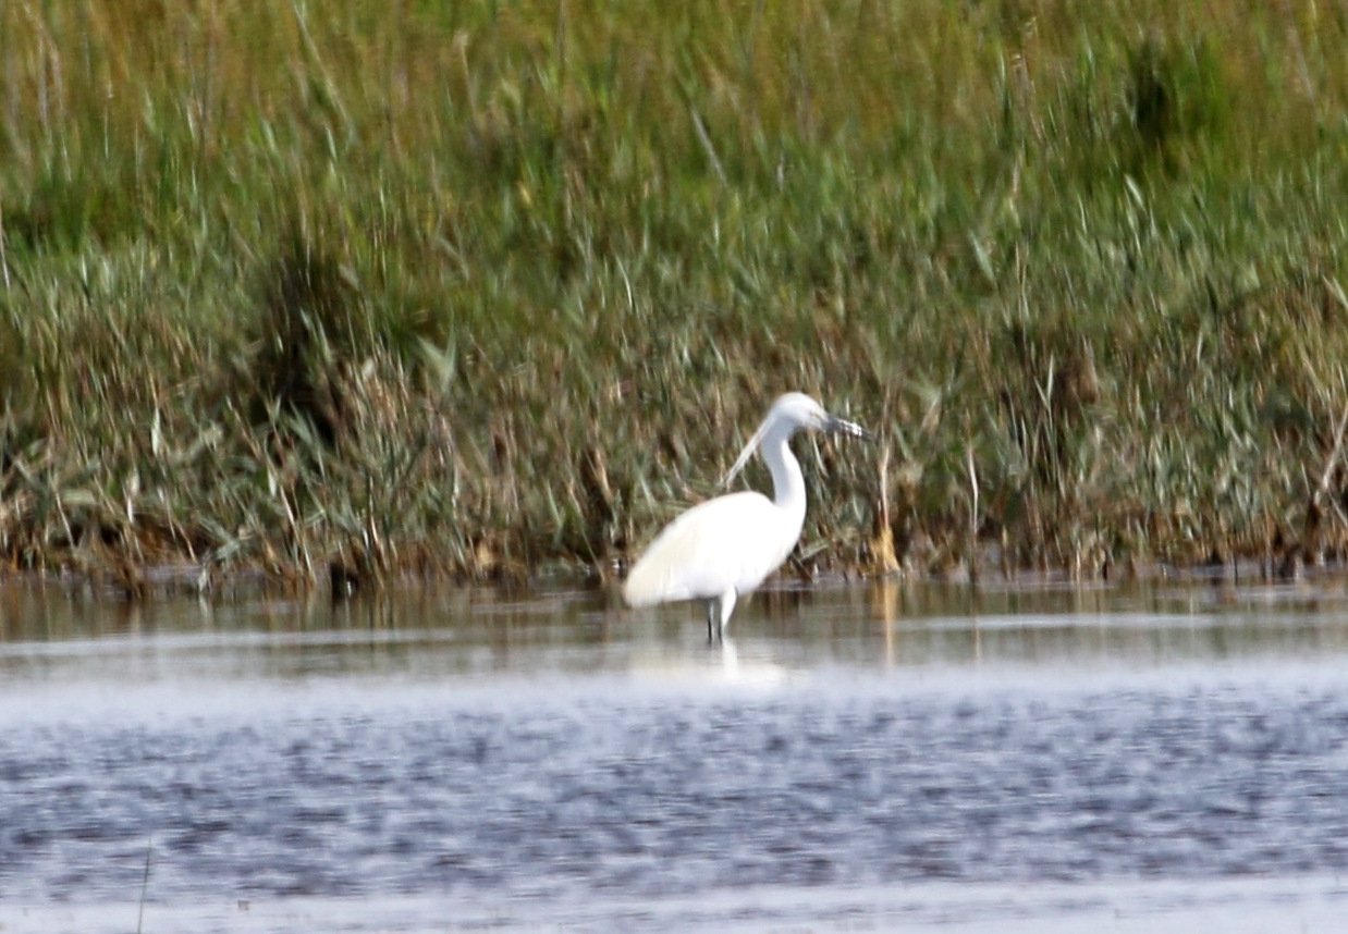
M 1333 873 L 1345 764 L 1332 683 L 55 718 L 0 733 L 0 900 L 135 898 L 147 840 L 168 900 Z

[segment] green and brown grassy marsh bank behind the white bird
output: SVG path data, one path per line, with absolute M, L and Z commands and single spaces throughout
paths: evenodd
M 786 388 L 806 565 L 1337 557 L 1345 16 L 5 4 L 0 557 L 609 569 Z

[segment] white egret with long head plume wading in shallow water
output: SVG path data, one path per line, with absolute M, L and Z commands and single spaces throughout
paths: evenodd
M 745 491 L 694 505 L 655 536 L 628 574 L 623 598 L 631 606 L 705 600 L 708 642 L 721 636 L 740 594 L 780 567 L 801 539 L 805 477 L 790 446 L 801 429 L 872 438 L 803 392 L 780 396 L 725 476 L 729 484 L 762 446 L 774 499 Z

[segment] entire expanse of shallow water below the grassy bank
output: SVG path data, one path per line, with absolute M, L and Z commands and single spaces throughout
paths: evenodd
M 1348 918 L 1332 582 L 0 608 L 5 931 Z

